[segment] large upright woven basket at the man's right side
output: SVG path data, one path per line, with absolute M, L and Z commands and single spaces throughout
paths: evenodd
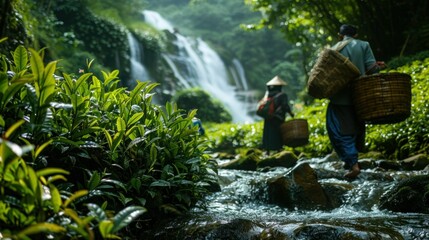
M 356 114 L 371 124 L 405 120 L 411 114 L 411 76 L 405 73 L 380 73 L 353 81 Z

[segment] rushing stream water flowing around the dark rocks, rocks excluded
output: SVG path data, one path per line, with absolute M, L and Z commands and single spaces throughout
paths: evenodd
M 219 160 L 222 162 L 222 160 Z M 380 197 L 402 179 L 427 171 L 364 169 L 358 179 L 342 178 L 339 161 L 300 160 L 318 181 L 348 186 L 340 207 L 331 210 L 287 209 L 268 203 L 267 179 L 289 168 L 218 172 L 221 191 L 212 193 L 188 216 L 160 224 L 153 239 L 429 239 L 429 215 L 380 210 Z M 146 235 L 147 237 L 148 235 Z M 151 239 L 151 238 L 148 238 Z

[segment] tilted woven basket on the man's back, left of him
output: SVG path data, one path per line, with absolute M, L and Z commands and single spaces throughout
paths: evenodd
M 359 76 L 359 69 L 348 58 L 326 48 L 310 72 L 307 90 L 315 98 L 329 98 Z

